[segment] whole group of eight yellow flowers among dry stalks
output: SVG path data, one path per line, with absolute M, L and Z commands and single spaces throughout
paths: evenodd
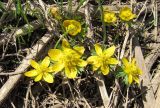
M 62 21 L 62 16 L 58 8 L 53 7 L 50 12 L 56 20 Z M 135 17 L 136 15 L 133 14 L 128 7 L 123 7 L 119 12 L 119 19 L 126 24 L 131 22 Z M 107 24 L 114 24 L 117 22 L 118 17 L 113 11 L 106 8 L 103 11 L 102 20 Z M 139 75 L 142 74 L 142 71 L 136 65 L 134 58 L 132 58 L 131 61 L 127 60 L 127 58 L 118 60 L 114 57 L 116 50 L 115 45 L 104 48 L 104 45 L 102 47 L 99 43 L 94 44 L 94 51 L 90 52 L 91 56 L 85 58 L 84 55 L 88 55 L 85 54 L 85 47 L 78 45 L 72 46 L 69 40 L 65 38 L 66 35 L 75 37 L 81 33 L 83 29 L 81 22 L 75 19 L 65 19 L 62 27 L 64 28 L 64 34 L 57 41 L 55 47 L 48 51 L 48 56 L 46 56 L 40 64 L 31 60 L 30 64 L 34 69 L 25 72 L 25 76 L 34 78 L 35 82 L 43 79 L 48 83 L 53 83 L 54 76 L 57 73 L 61 72 L 62 75 L 68 79 L 74 79 L 80 70 L 85 72 L 85 67 L 89 65 L 92 66 L 93 71 L 100 72 L 103 75 L 108 75 L 112 69 L 117 70 L 115 72 L 116 78 L 121 77 L 125 84 L 139 84 Z M 57 48 L 61 40 L 62 45 Z

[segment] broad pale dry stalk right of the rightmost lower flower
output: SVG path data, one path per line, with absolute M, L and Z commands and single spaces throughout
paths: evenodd
M 139 45 L 139 41 L 138 41 L 137 37 L 135 37 L 133 39 L 133 43 L 135 44 L 134 51 L 135 51 L 135 58 L 136 58 L 137 65 L 143 71 L 142 92 L 147 92 L 147 94 L 145 95 L 146 101 L 145 100 L 143 101 L 144 107 L 145 108 L 153 108 L 153 103 L 155 102 L 155 97 L 154 97 L 152 87 L 148 86 L 148 85 L 151 84 L 150 78 L 149 78 L 149 73 L 147 71 L 146 64 L 145 64 L 145 61 L 144 61 L 144 57 L 143 57 L 143 54 L 142 54 L 142 50 L 141 50 L 141 47 Z M 148 88 L 148 91 L 146 91 L 146 87 Z

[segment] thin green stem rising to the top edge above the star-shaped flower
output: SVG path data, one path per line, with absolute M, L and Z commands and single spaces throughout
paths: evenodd
M 100 7 L 100 14 L 101 14 L 101 21 L 102 21 L 102 28 L 103 28 L 103 46 L 104 46 L 107 39 L 107 35 L 106 35 L 106 26 L 104 22 L 104 14 L 103 14 L 103 7 L 101 4 L 101 0 L 98 0 L 98 5 Z

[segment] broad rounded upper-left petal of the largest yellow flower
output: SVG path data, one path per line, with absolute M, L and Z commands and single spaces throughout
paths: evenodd
M 50 49 L 48 51 L 48 55 L 53 61 L 59 61 L 59 59 L 63 56 L 63 53 L 59 49 Z

